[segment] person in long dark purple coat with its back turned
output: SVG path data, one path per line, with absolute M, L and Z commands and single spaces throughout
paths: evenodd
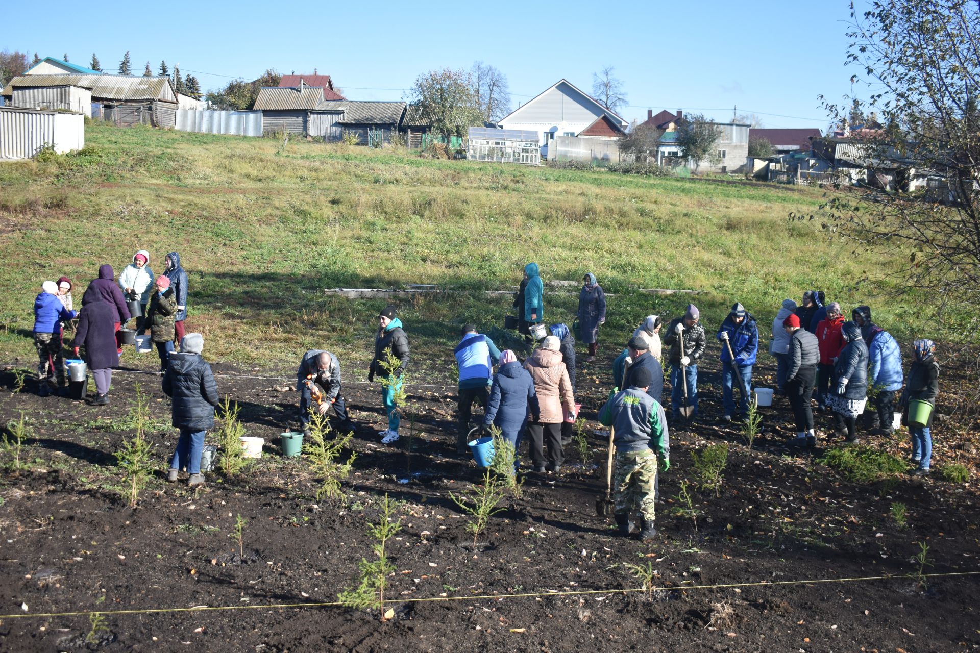
M 81 298 L 78 329 L 74 334 L 74 352 L 85 348 L 85 363 L 95 377 L 96 396 L 90 403 L 104 406 L 109 403 L 113 383 L 113 367 L 120 364 L 116 348 L 116 306 L 106 302 L 91 288 Z

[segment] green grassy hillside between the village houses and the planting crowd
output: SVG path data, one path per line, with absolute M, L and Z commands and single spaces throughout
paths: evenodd
M 702 291 L 709 328 L 741 301 L 767 335 L 783 298 L 819 288 L 849 308 L 868 300 L 856 282 L 887 264 L 787 220 L 816 210 L 816 190 L 96 123 L 86 137 L 77 156 L 0 163 L 0 362 L 33 355 L 42 281 L 69 275 L 78 301 L 99 264 L 118 274 L 137 249 L 157 273 L 178 251 L 191 274 L 189 328 L 205 334 L 210 356 L 256 364 L 324 345 L 367 360 L 382 303 L 323 297 L 330 287 L 498 289 L 530 260 L 546 280 L 592 271 L 617 295 L 605 340 L 618 344 L 643 315 L 675 315 L 688 301 L 630 288 Z M 406 305 L 417 349 L 448 345 L 466 320 L 499 324 L 510 300 L 486 297 Z M 546 317 L 570 322 L 575 305 L 548 296 Z M 889 324 L 900 333 L 922 323 L 902 306 L 877 307 L 886 324 L 903 315 Z

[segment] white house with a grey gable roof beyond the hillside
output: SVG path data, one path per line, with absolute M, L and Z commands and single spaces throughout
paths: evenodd
M 574 84 L 561 79 L 501 119 L 497 125 L 504 129 L 537 132 L 541 156 L 547 158 L 548 144 L 556 136 L 578 136 L 604 116 L 623 129 L 628 125 L 626 120 L 616 116 Z

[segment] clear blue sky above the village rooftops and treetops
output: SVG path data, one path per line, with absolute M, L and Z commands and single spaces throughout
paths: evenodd
M 205 89 L 316 68 L 355 100 L 399 100 L 420 72 L 483 61 L 507 75 L 515 107 L 562 77 L 589 92 L 613 66 L 627 120 L 647 109 L 721 120 L 738 106 L 768 127 L 823 128 L 817 96 L 851 91 L 849 19 L 846 0 L 10 2 L 0 50 L 84 66 L 95 52 L 109 71 L 129 50 L 137 74 L 166 60 Z

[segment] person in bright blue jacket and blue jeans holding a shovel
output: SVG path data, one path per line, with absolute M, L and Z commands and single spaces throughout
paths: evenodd
M 742 415 L 749 411 L 749 395 L 752 394 L 752 366 L 759 352 L 759 328 L 756 318 L 741 303 L 735 303 L 728 316 L 721 322 L 716 340 L 721 343 L 721 400 L 724 419 L 730 422 L 735 416 L 735 398 L 732 388 L 738 383 L 742 391 L 739 410 Z M 731 351 L 729 352 L 729 347 Z M 731 354 L 735 354 L 734 360 Z

